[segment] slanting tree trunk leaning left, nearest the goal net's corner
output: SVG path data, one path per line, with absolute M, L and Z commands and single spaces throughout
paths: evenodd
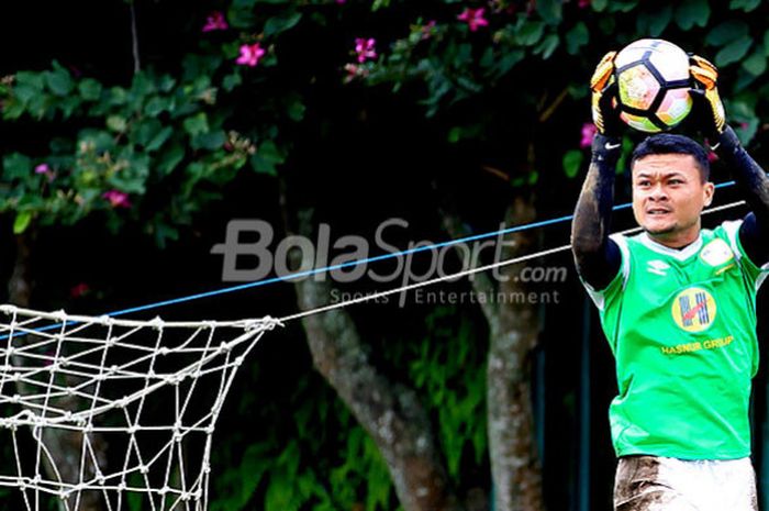
M 302 219 L 307 215 L 300 214 Z M 309 235 L 309 222 L 300 227 Z M 330 303 L 327 281 L 296 284 L 301 310 Z M 384 321 L 384 319 L 382 319 Z M 406 511 L 459 511 L 438 456 L 431 423 L 416 393 L 390 381 L 369 360 L 366 346 L 343 309 L 302 320 L 317 371 L 334 387 L 384 458 Z

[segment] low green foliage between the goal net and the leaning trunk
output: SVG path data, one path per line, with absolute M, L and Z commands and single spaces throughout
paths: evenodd
M 394 495 L 379 451 L 319 378 L 310 374 L 297 382 L 291 413 L 271 404 L 254 409 L 244 396 L 243 413 L 276 427 L 267 436 L 222 438 L 214 464 L 224 468 L 213 481 L 212 511 L 392 509 Z

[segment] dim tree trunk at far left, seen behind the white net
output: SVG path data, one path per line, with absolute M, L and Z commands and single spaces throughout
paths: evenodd
M 34 244 L 35 235 L 32 229 L 26 232 L 16 235 L 16 258 L 13 266 L 13 271 L 11 278 L 8 282 L 9 300 L 19 306 L 29 308 L 33 291 L 33 280 L 32 280 L 32 249 Z M 27 335 L 33 337 L 32 335 Z M 21 366 L 24 364 L 22 357 L 14 356 L 13 364 L 15 366 Z M 27 388 L 23 382 L 16 382 L 16 388 L 20 395 L 30 395 L 35 392 L 35 390 Z M 57 408 L 75 409 L 74 400 L 76 398 L 59 398 L 56 400 Z M 105 448 L 107 444 L 99 435 L 92 434 L 91 445 L 93 446 L 94 454 L 103 467 L 105 463 Z M 58 430 L 53 427 L 43 427 L 43 442 L 51 452 L 52 457 L 55 460 L 56 468 L 64 482 L 78 482 L 80 480 L 80 453 L 82 448 L 82 433 L 68 430 Z M 47 462 L 47 460 L 46 460 Z M 45 463 L 45 471 L 51 480 L 57 480 L 56 474 L 53 467 Z M 85 477 L 90 478 L 93 476 L 93 469 L 86 470 Z M 102 511 L 103 503 L 101 500 L 101 495 L 97 491 L 86 491 L 80 496 L 80 504 L 75 509 L 75 498 L 69 500 L 70 511 Z M 59 509 L 63 511 L 66 509 L 64 504 L 59 504 Z

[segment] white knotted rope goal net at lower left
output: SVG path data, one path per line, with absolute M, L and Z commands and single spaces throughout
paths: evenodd
M 279 324 L 0 306 L 0 445 L 15 458 L 0 487 L 20 490 L 27 511 L 205 510 L 224 399 Z

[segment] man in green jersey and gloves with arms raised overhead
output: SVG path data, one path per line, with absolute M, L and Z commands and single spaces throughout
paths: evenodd
M 614 509 L 757 510 L 748 406 L 758 369 L 756 293 L 769 268 L 769 179 L 725 123 L 715 67 L 693 56 L 692 115 L 751 212 L 702 229 L 714 192 L 704 149 L 681 135 L 653 135 L 631 164 L 643 233 L 610 236 L 621 152 L 613 58 L 591 80 L 598 133 L 572 252 L 616 362 Z

